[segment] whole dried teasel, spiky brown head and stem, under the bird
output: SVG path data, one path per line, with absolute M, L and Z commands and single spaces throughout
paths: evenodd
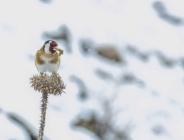
M 34 75 L 30 80 L 31 86 L 34 88 L 34 90 L 39 91 L 42 94 L 41 119 L 37 140 L 43 140 L 48 95 L 61 95 L 64 92 L 65 85 L 61 76 L 58 73 L 54 73 L 51 75 Z

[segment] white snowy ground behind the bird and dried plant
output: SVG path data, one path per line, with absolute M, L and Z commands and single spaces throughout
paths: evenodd
M 173 25 L 161 19 L 152 6 L 154 2 L 53 0 L 47 4 L 39 0 L 0 0 L 0 108 L 3 109 L 0 112 L 0 139 L 26 139 L 22 129 L 14 125 L 5 112 L 17 113 L 35 131 L 38 128 L 41 96 L 29 85 L 29 78 L 37 73 L 30 57 L 43 44 L 44 31 L 56 30 L 66 24 L 72 34 L 73 53 L 64 54 L 59 71 L 67 85 L 66 94 L 49 98 L 45 130 L 48 139 L 95 139 L 89 132 L 73 130 L 71 120 L 81 110 L 98 110 L 95 99 L 110 98 L 116 92 L 118 97 L 114 106 L 124 109 L 117 120 L 119 125 L 130 123 L 133 126 L 129 134 L 132 140 L 183 140 L 184 74 L 181 65 L 166 68 L 154 56 L 145 63 L 123 53 L 125 46 L 133 45 L 143 52 L 161 51 L 173 59 L 184 55 L 184 25 Z M 170 13 L 184 19 L 183 0 L 161 2 Z M 128 65 L 111 65 L 85 57 L 79 51 L 82 38 L 90 38 L 99 44 L 114 44 Z M 112 73 L 116 80 L 99 79 L 94 73 L 97 68 Z M 126 72 L 143 80 L 145 87 L 118 85 L 118 78 Z M 69 80 L 71 75 L 78 75 L 86 82 L 94 100 L 83 105 L 76 98 L 78 89 Z M 153 128 L 163 130 L 156 135 Z

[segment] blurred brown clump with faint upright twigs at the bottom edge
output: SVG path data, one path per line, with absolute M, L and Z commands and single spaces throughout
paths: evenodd
M 119 128 L 116 125 L 118 123 L 116 116 L 119 112 L 117 109 L 115 111 L 112 105 L 115 98 L 113 96 L 110 100 L 106 98 L 99 100 L 102 112 L 100 114 L 96 111 L 82 112 L 73 122 L 73 126 L 88 130 L 99 140 L 130 140 L 128 136 L 130 126 Z

